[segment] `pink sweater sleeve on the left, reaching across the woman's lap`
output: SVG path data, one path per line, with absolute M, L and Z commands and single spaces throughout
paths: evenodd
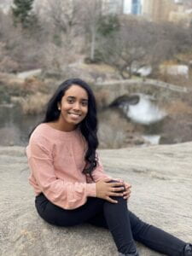
M 42 144 L 31 142 L 27 157 L 39 189 L 55 205 L 75 209 L 84 205 L 87 196 L 96 196 L 96 183 L 70 183 L 56 177 L 51 152 Z

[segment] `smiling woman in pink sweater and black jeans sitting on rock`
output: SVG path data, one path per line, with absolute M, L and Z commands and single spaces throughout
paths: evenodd
M 119 255 L 139 255 L 134 240 L 166 255 L 192 255 L 190 244 L 128 210 L 131 185 L 103 172 L 96 131 L 96 100 L 90 86 L 68 79 L 50 99 L 45 119 L 26 148 L 40 217 L 58 226 L 90 223 L 106 228 Z

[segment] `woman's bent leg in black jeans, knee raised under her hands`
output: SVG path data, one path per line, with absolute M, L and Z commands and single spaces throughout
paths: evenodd
M 38 195 L 35 202 L 38 214 L 49 224 L 73 226 L 92 222 L 92 224 L 108 228 L 112 232 L 120 253 L 136 252 L 126 201 L 122 197 L 117 197 L 117 199 L 119 203 L 112 204 L 99 198 L 90 197 L 84 206 L 74 210 L 65 210 L 55 206 L 43 194 Z M 101 214 L 104 214 L 104 218 L 98 219 Z

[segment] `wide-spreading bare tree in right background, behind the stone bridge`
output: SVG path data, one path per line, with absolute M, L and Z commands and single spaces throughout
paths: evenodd
M 119 32 L 101 40 L 99 51 L 104 62 L 115 67 L 123 79 L 130 79 L 141 67 L 155 70 L 190 44 L 187 28 L 128 17 L 121 20 Z

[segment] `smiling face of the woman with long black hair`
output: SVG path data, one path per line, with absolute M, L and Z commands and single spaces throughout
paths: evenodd
M 88 94 L 86 90 L 77 84 L 73 84 L 61 98 L 58 104 L 61 110 L 59 123 L 66 131 L 75 129 L 88 112 Z

